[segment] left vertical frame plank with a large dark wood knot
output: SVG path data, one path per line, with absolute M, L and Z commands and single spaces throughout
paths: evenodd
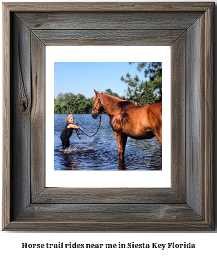
M 12 163 L 12 218 L 30 204 L 30 111 L 31 111 L 31 44 L 30 30 L 13 17 L 13 68 L 10 140 Z

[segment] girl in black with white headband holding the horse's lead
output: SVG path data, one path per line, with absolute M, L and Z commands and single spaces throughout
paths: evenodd
M 82 129 L 81 126 L 74 125 L 74 116 L 72 114 L 68 114 L 67 118 L 65 119 L 66 125 L 63 132 L 60 135 L 63 148 L 70 146 L 70 137 L 72 136 L 73 129 Z

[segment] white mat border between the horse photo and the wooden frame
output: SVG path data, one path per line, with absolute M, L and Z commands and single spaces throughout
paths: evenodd
M 164 134 L 170 134 L 170 46 L 46 46 L 45 52 L 45 116 L 49 116 L 45 119 L 45 127 L 49 127 L 45 131 L 45 145 L 54 145 L 54 132 L 50 129 L 53 120 L 51 113 L 53 113 L 54 98 L 54 62 L 161 61 L 164 99 L 163 141 Z M 127 56 L 125 52 L 128 52 Z M 170 187 L 170 137 L 166 140 L 162 152 L 162 170 L 152 171 L 53 170 L 52 146 L 46 147 L 45 185 L 46 187 Z

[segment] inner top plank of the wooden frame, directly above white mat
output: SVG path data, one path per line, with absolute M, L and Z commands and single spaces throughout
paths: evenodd
M 32 30 L 46 45 L 171 45 L 185 30 Z

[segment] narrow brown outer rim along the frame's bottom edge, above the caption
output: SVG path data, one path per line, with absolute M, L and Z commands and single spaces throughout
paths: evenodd
M 191 221 L 12 221 L 5 230 L 60 230 L 60 231 L 211 231 L 209 223 Z

